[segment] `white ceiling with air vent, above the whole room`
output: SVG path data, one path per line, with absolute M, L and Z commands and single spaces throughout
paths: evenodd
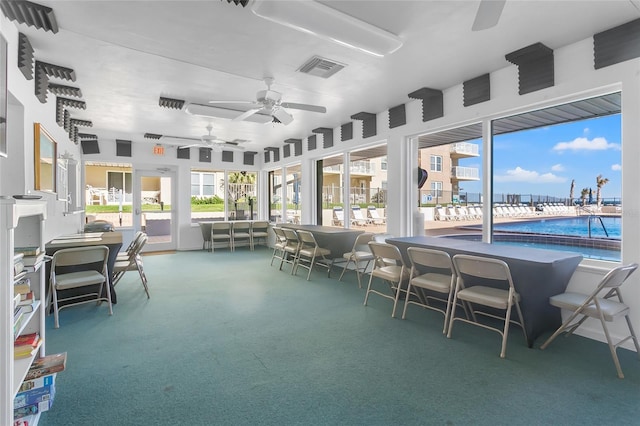
M 72 68 L 90 120 L 82 133 L 153 142 L 145 133 L 199 137 L 208 124 L 222 139 L 262 151 L 318 127 L 339 127 L 361 111 L 379 113 L 422 87 L 445 89 L 508 66 L 505 54 L 541 42 L 551 49 L 640 17 L 637 2 L 507 0 L 498 25 L 472 32 L 479 1 L 323 1 L 398 35 L 396 52 L 377 58 L 255 16 L 225 0 L 35 1 L 51 7 L 57 34 L 19 25 L 37 60 Z M 346 64 L 328 79 L 296 72 L 311 56 Z M 289 110 L 293 123 L 259 124 L 161 108 L 161 96 L 207 103 L 254 100 L 273 76 L 283 101 L 323 105 L 326 114 Z M 48 102 L 55 96 L 49 95 Z M 185 142 L 187 143 L 187 142 Z

